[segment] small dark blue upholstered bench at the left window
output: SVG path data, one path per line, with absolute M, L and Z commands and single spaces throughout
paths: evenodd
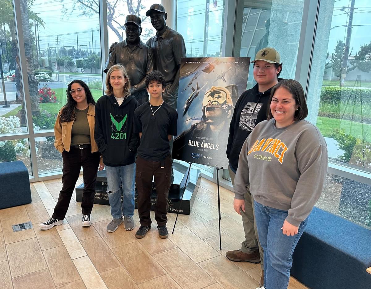
M 28 170 L 22 161 L 0 163 L 0 209 L 31 203 Z

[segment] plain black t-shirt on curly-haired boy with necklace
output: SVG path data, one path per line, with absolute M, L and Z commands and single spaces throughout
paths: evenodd
M 160 109 L 158 109 L 160 108 Z M 152 106 L 146 102 L 134 112 L 134 132 L 141 132 L 138 155 L 150 161 L 159 161 L 170 153 L 168 135 L 177 135 L 177 111 L 164 102 L 160 106 Z M 157 111 L 158 109 L 158 111 Z

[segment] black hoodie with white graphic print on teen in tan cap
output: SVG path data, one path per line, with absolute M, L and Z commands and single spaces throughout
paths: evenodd
M 278 81 L 283 80 L 279 78 Z M 259 84 L 243 92 L 234 106 L 229 126 L 227 158 L 230 167 L 236 171 L 242 145 L 255 125 L 267 119 L 267 101 L 272 88 L 259 92 Z

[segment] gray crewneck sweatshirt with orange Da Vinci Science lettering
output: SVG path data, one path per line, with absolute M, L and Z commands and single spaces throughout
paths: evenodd
M 306 120 L 276 128 L 275 120 L 256 125 L 243 144 L 234 180 L 236 199 L 247 186 L 254 200 L 288 211 L 294 226 L 308 217 L 321 196 L 327 173 L 327 145 Z

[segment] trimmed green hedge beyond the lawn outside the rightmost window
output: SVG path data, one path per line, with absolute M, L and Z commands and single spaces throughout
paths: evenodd
M 349 98 L 350 96 L 350 98 Z M 340 86 L 322 86 L 321 102 L 338 103 L 339 101 L 355 101 L 362 104 L 371 104 L 371 89 L 348 88 Z

